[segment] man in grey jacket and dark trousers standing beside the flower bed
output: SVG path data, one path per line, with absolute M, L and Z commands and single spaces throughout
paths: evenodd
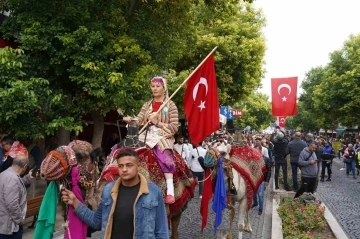
M 314 193 L 315 191 L 318 172 L 316 149 L 315 141 L 311 141 L 300 153 L 298 163 L 301 167 L 301 187 L 296 192 L 295 198 L 300 197 L 304 192 Z

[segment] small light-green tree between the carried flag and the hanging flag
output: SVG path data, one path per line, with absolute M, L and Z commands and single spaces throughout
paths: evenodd
M 235 118 L 235 126 L 237 128 L 245 128 L 251 126 L 256 130 L 266 128 L 273 122 L 274 117 L 271 116 L 271 103 L 267 95 L 254 92 L 246 100 L 236 103 L 235 109 L 242 109 L 243 116 Z

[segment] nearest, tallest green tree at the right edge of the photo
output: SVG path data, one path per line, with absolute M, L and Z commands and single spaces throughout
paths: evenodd
M 360 113 L 360 35 L 351 35 L 342 49 L 330 54 L 326 78 L 314 91 L 316 109 L 323 108 L 332 123 L 356 125 Z

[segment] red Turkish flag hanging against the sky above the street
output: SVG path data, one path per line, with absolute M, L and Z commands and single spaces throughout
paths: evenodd
M 296 115 L 297 77 L 272 78 L 272 115 Z

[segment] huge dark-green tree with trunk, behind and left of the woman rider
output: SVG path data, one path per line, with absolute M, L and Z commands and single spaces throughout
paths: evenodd
M 140 108 L 150 76 L 181 57 L 192 19 L 190 1 L 9 0 L 8 7 L 4 36 L 20 36 L 34 75 L 48 79 L 56 95 L 52 106 L 61 117 L 49 115 L 48 132 L 79 129 L 90 112 L 94 146 L 101 144 L 103 116 Z

